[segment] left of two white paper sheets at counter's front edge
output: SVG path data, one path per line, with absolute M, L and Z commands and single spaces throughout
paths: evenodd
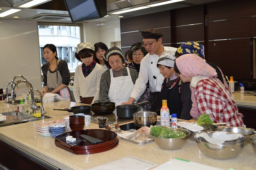
M 152 162 L 148 162 L 134 156 L 126 156 L 124 158 L 108 162 L 106 164 L 95 166 L 88 170 L 148 170 L 155 166 L 158 166 L 158 164 L 154 164 Z

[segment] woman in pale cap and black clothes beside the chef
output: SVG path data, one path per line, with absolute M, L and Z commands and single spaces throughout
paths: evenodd
M 176 57 L 170 51 L 164 51 L 157 62 L 160 73 L 164 76 L 162 83 L 162 100 L 167 100 L 170 114 L 176 113 L 177 118 L 190 120 L 192 108 L 189 83 L 184 83 L 174 72 Z

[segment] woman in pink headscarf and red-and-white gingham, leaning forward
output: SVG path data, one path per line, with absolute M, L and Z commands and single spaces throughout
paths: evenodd
M 216 78 L 214 68 L 195 54 L 176 58 L 174 70 L 183 82 L 190 82 L 190 89 L 196 98 L 199 115 L 209 114 L 214 123 L 226 122 L 227 126 L 244 127 L 242 114 L 228 88 Z

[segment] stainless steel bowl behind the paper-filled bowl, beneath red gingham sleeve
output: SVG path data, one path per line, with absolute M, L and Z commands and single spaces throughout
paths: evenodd
M 254 134 L 254 129 L 242 128 L 242 127 L 224 127 L 224 128 L 219 128 L 218 131 L 242 134 L 243 136 L 245 136 L 247 138 L 247 143 L 250 143 L 249 138 L 250 138 L 250 136 L 252 136 Z

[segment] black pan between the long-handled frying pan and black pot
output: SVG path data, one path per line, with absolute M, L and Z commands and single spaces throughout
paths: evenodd
M 99 102 L 92 104 L 92 112 L 95 114 L 107 114 L 112 113 L 116 108 L 114 102 Z

